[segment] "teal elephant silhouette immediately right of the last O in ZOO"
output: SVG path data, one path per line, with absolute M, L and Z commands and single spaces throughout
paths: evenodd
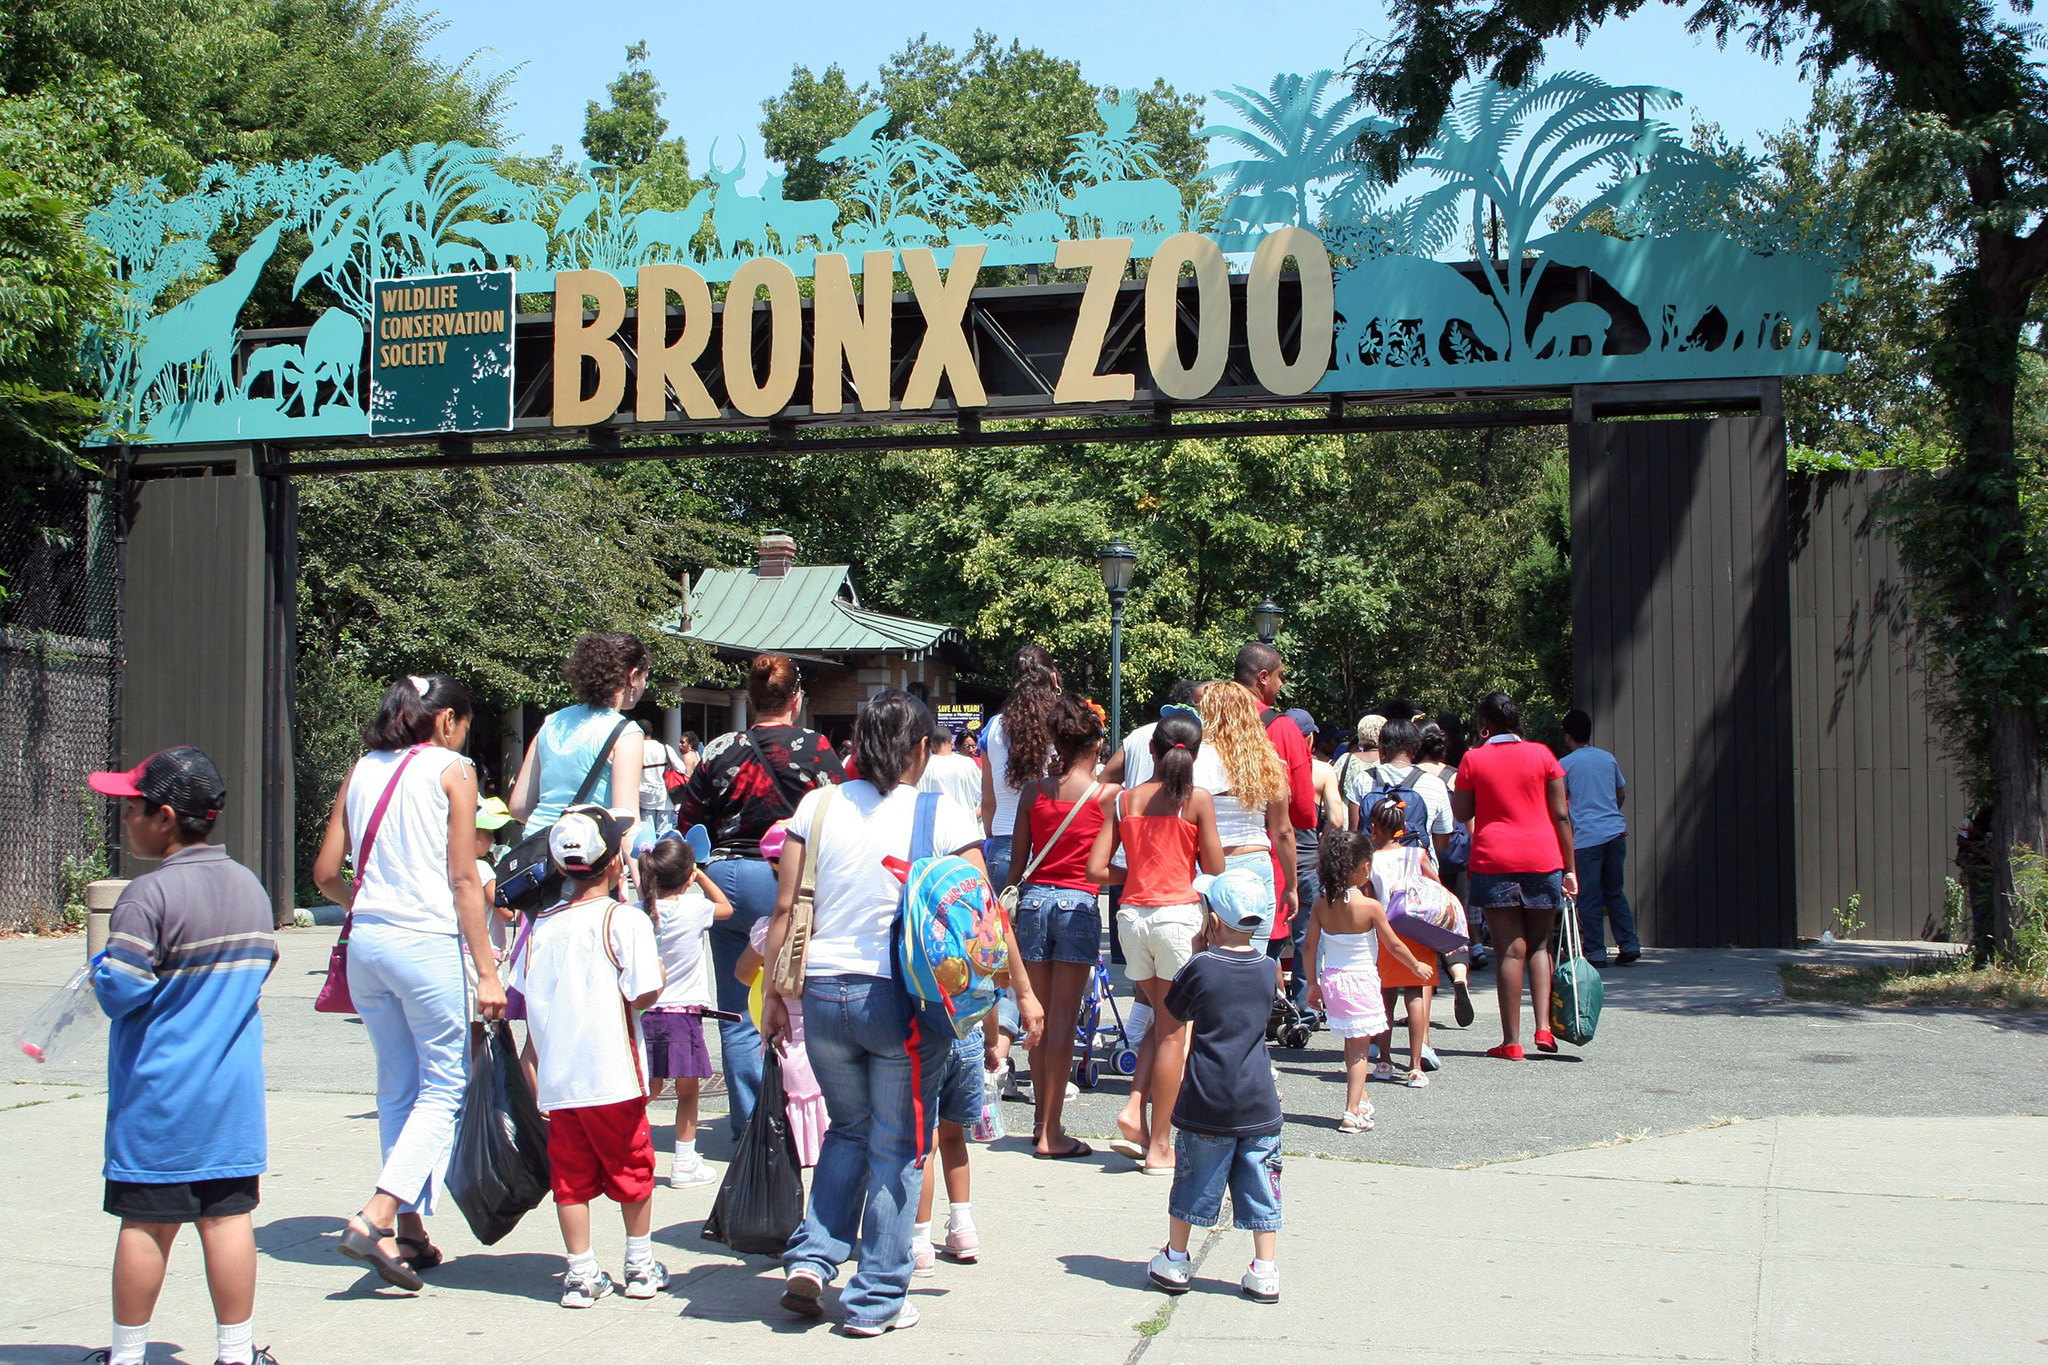
M 1464 323 L 1493 358 L 1509 352 L 1507 321 L 1493 299 L 1440 260 L 1378 256 L 1337 272 L 1337 315 L 1339 368 L 1362 364 L 1374 340 L 1382 364 L 1436 364 L 1452 323 Z

